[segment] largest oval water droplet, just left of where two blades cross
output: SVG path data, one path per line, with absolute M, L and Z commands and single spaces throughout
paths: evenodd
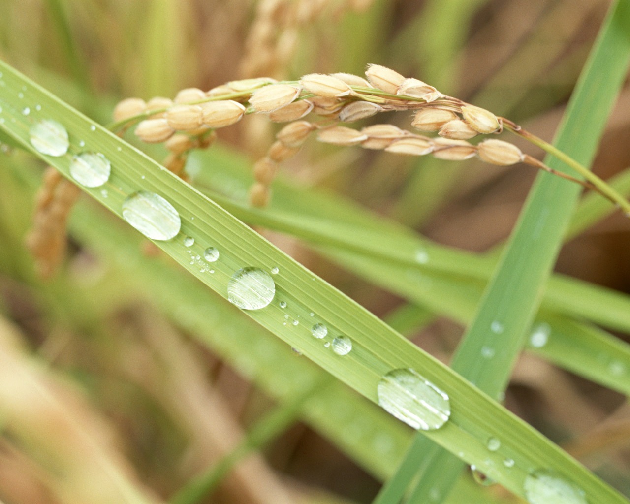
M 449 420 L 449 396 L 413 369 L 384 375 L 377 395 L 382 408 L 415 429 L 437 429 Z

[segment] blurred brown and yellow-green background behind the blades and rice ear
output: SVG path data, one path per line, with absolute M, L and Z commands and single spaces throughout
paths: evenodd
M 173 97 L 181 88 L 206 90 L 253 76 L 362 74 L 366 64 L 377 63 L 551 139 L 609 4 L 3 0 L 0 57 L 103 124 L 127 96 Z M 630 164 L 629 118 L 626 85 L 595 161 L 602 178 Z M 390 120 L 402 125 L 406 119 Z M 274 132 L 273 124 L 249 117 L 219 132 L 222 152 L 228 159 L 254 161 Z M 135 142 L 132 135 L 126 138 Z M 166 154 L 161 146 L 142 148 L 156 159 Z M 142 275 L 117 265 L 125 258 L 103 256 L 70 236 L 62 271 L 49 282 L 37 278 L 22 243 L 30 227 L 33 176 L 42 166 L 20 152 L 4 152 L 0 168 L 0 427 L 6 418 L 19 425 L 4 429 L 0 438 L 0 498 L 168 500 L 233 449 L 270 411 L 273 398 L 251 381 L 251 367 L 226 362 L 202 343 L 212 335 L 193 335 L 177 306 L 154 302 L 139 285 Z M 315 142 L 282 167 L 282 177 L 294 185 L 340 193 L 438 243 L 478 252 L 508 236 L 535 175 L 520 166 L 408 159 Z M 557 270 L 630 292 L 627 230 L 621 215 L 610 216 L 564 246 Z M 391 313 L 401 299 L 290 236 L 263 233 L 396 323 L 399 312 Z M 130 241 L 141 246 L 135 235 Z M 169 266 L 164 258 L 156 261 Z M 227 325 L 238 317 L 225 307 L 208 310 L 222 311 Z M 407 329 L 445 362 L 462 334 L 459 324 L 445 318 Z M 298 358 L 286 350 L 287 359 Z M 630 493 L 624 478 L 630 468 L 630 411 L 622 396 L 529 356 L 518 363 L 505 404 L 556 442 L 568 442 L 582 461 Z M 262 454 L 241 462 L 202 501 L 369 502 L 382 474 L 352 461 L 334 436 L 327 439 L 295 413 L 289 416 L 289 427 Z M 588 443 L 585 449 L 579 440 L 588 442 L 590 430 L 604 420 L 625 422 L 625 437 L 604 436 L 599 444 L 595 440 L 595 449 Z M 116 488 L 109 478 L 118 481 Z M 478 496 L 508 499 L 498 488 Z

